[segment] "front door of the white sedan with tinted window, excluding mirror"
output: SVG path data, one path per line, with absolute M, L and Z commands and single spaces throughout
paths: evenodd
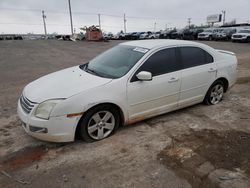
M 151 81 L 140 81 L 141 71 L 152 73 Z M 177 107 L 181 86 L 176 48 L 155 52 L 135 72 L 127 84 L 129 122 L 136 122 Z

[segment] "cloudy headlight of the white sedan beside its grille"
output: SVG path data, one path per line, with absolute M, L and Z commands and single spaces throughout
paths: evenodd
M 52 99 L 42 102 L 35 111 L 35 116 L 42 119 L 49 119 L 50 114 L 57 103 L 63 99 Z

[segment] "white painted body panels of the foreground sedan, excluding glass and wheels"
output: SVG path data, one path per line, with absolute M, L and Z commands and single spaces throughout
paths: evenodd
M 118 79 L 107 79 L 72 67 L 49 74 L 28 84 L 23 95 L 34 102 L 29 114 L 18 102 L 18 115 L 25 131 L 41 140 L 69 142 L 75 137 L 81 114 L 97 104 L 112 103 L 123 114 L 124 124 L 131 124 L 172 110 L 203 101 L 211 84 L 226 78 L 229 87 L 236 81 L 237 59 L 231 52 L 215 50 L 207 45 L 180 40 L 142 40 L 119 45 L 146 48 L 146 54 L 130 71 Z M 153 77 L 151 81 L 130 82 L 137 69 L 155 52 L 171 47 L 194 46 L 209 52 L 214 62 Z M 48 120 L 34 115 L 39 103 L 61 99 Z M 68 117 L 69 114 L 79 114 Z M 29 126 L 47 128 L 48 133 L 32 132 Z

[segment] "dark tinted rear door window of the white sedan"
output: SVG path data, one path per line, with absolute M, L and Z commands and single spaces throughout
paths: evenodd
M 213 62 L 213 57 L 198 47 L 181 47 L 180 54 L 183 69 Z

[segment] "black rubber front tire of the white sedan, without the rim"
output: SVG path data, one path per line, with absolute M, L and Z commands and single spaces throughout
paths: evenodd
M 97 107 L 94 107 L 92 109 L 90 109 L 89 111 L 87 111 L 87 113 L 85 115 L 83 115 L 81 122 L 80 122 L 80 136 L 83 140 L 85 140 L 86 142 L 94 142 L 94 141 L 99 141 L 96 139 L 93 139 L 89 133 L 88 133 L 88 122 L 90 120 L 90 118 L 97 112 L 99 111 L 109 111 L 110 113 L 113 114 L 114 118 L 115 118 L 115 127 L 113 129 L 113 131 L 105 138 L 108 138 L 109 136 L 113 135 L 117 128 L 119 127 L 120 124 L 120 115 L 119 112 L 111 105 L 99 105 Z M 103 138 L 103 139 L 105 139 Z M 100 139 L 102 140 L 102 139 Z

